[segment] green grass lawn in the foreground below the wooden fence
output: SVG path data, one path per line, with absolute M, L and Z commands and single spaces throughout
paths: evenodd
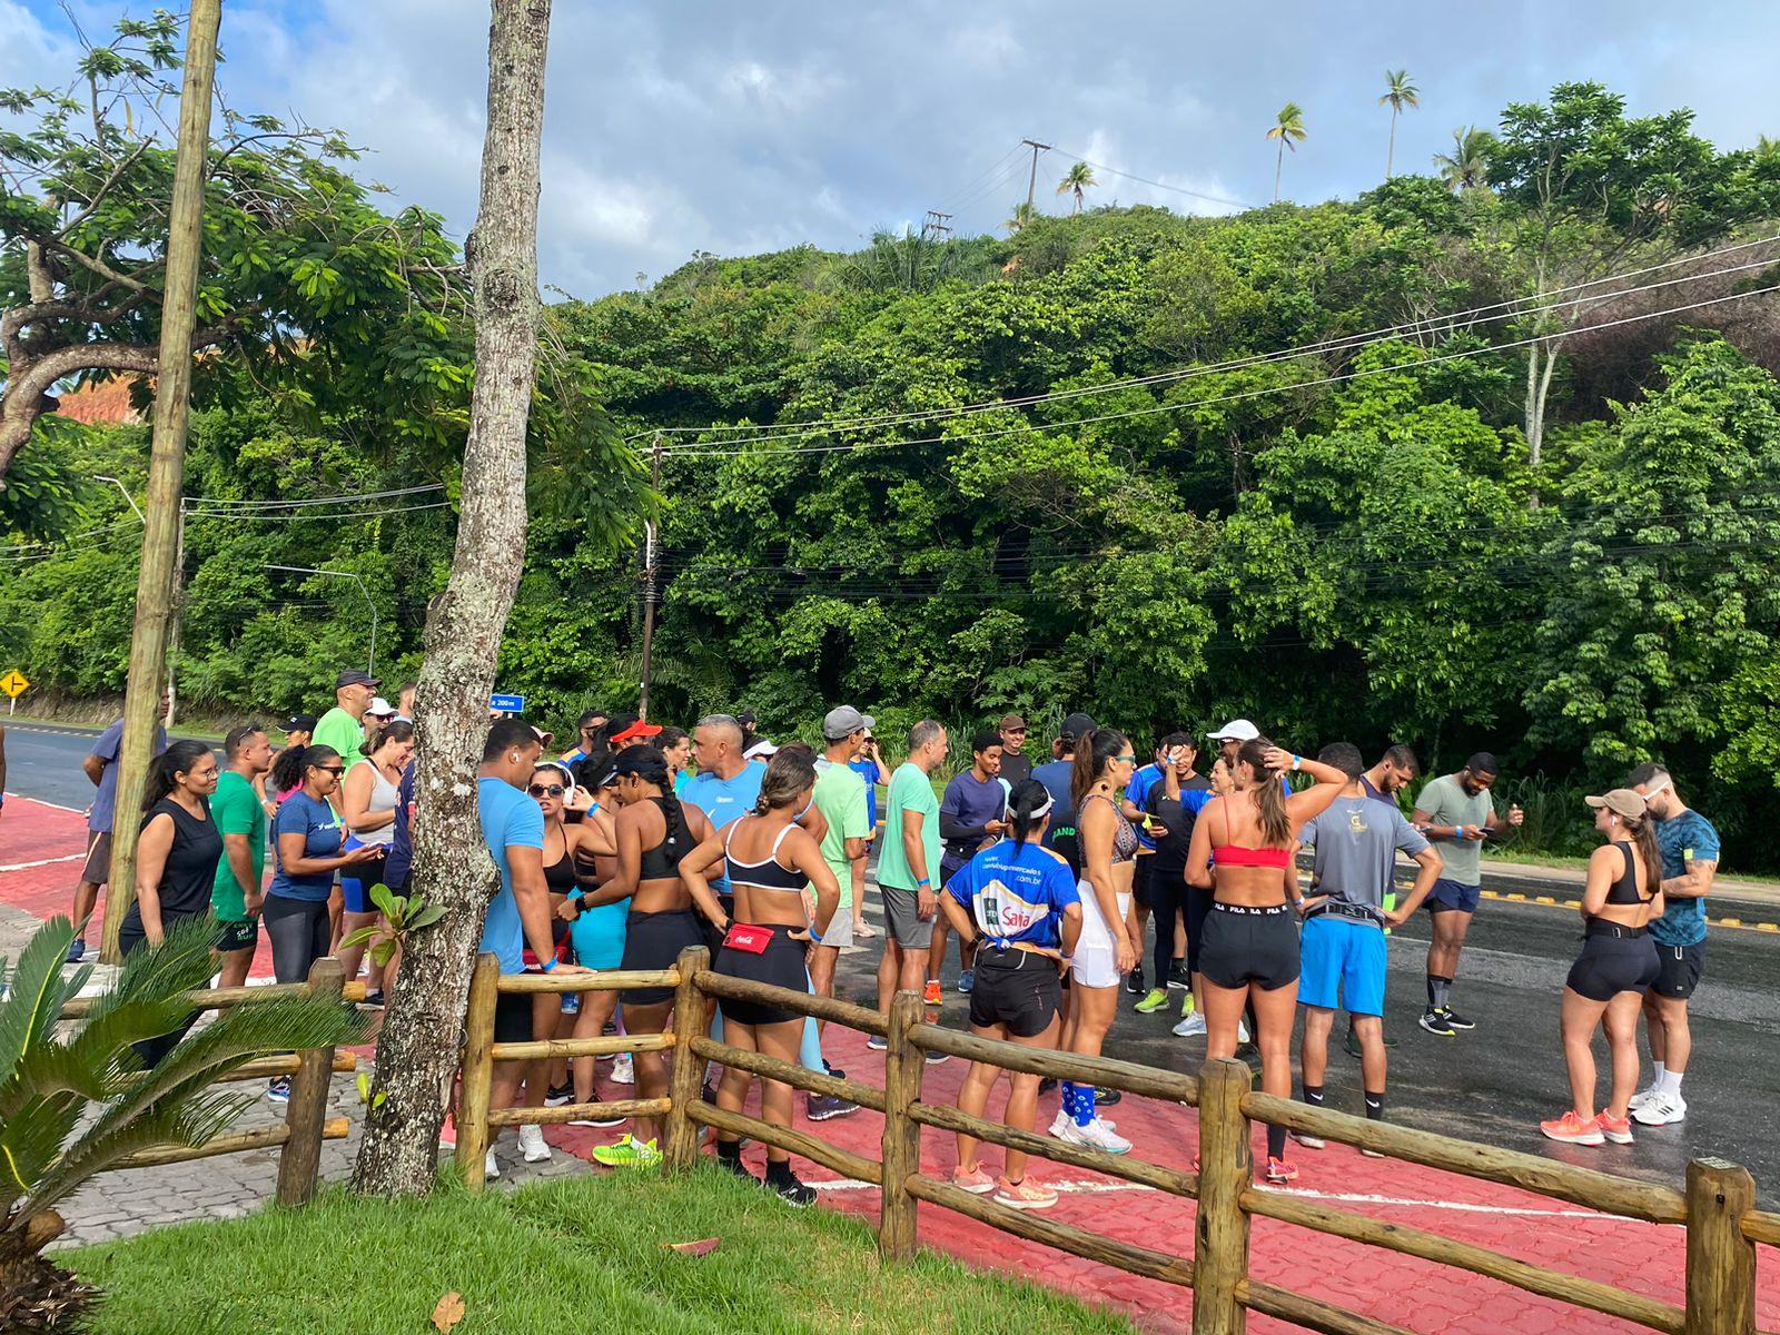
M 703 1257 L 668 1242 L 719 1237 Z M 707 1166 L 676 1180 L 575 1177 L 516 1193 L 361 1200 L 194 1223 L 62 1253 L 105 1290 L 96 1335 L 1027 1335 L 1121 1331 L 1120 1315 L 922 1253 L 878 1260 L 872 1230 L 794 1210 Z

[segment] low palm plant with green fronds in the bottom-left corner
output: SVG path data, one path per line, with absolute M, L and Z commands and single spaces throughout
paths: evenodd
M 93 977 L 62 970 L 75 927 L 50 918 L 20 952 L 0 1000 L 0 1326 L 75 1330 L 96 1290 L 43 1258 L 62 1232 L 55 1205 L 94 1175 L 151 1145 L 199 1146 L 246 1109 L 251 1095 L 217 1093 L 253 1057 L 363 1040 L 363 1022 L 315 997 L 222 1011 L 144 1070 L 134 1045 L 190 1024 L 185 993 L 210 977 L 215 922 L 167 931 L 160 947 L 130 954 L 110 990 L 69 1036 L 62 1007 Z M 0 959 L 0 972 L 5 961 Z M 89 1116 L 93 1114 L 93 1116 Z

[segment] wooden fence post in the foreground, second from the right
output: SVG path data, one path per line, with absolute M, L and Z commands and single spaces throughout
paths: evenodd
M 1228 1057 L 1200 1072 L 1200 1209 L 1193 1248 L 1193 1335 L 1242 1335 L 1248 1312 L 1235 1287 L 1248 1278 L 1242 1193 L 1255 1182 L 1242 1095 L 1255 1075 Z

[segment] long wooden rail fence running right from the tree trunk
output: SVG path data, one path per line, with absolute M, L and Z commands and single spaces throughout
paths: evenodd
M 495 1000 L 502 991 L 612 991 L 643 986 L 675 988 L 675 1018 L 669 1032 L 541 1043 L 493 1041 Z M 883 1088 L 819 1075 L 796 1063 L 714 1041 L 708 1036 L 710 1015 L 719 997 L 776 1006 L 883 1038 L 888 1045 Z M 1253 1075 L 1241 1061 L 1209 1061 L 1194 1077 L 1109 1057 L 1082 1057 L 977 1038 L 940 1029 L 924 1016 L 922 1000 L 913 991 L 897 993 L 886 1016 L 828 997 L 714 974 L 703 947 L 685 951 L 675 968 L 660 972 L 564 977 L 502 977 L 495 956 L 482 956 L 470 984 L 468 1045 L 457 1112 L 457 1157 L 465 1184 L 472 1191 L 482 1189 L 482 1155 L 493 1127 L 562 1123 L 589 1114 L 662 1116 L 662 1157 L 668 1171 L 691 1168 L 698 1161 L 701 1127 L 746 1136 L 879 1187 L 878 1242 L 886 1260 L 913 1257 L 918 1242 L 918 1205 L 922 1202 L 942 1205 L 1015 1237 L 1191 1289 L 1193 1335 L 1239 1335 L 1246 1330 L 1248 1312 L 1262 1312 L 1328 1335 L 1412 1335 L 1399 1326 L 1251 1278 L 1248 1258 L 1253 1218 L 1280 1219 L 1315 1234 L 1435 1260 L 1668 1335 L 1755 1333 L 1755 1244 L 1780 1246 L 1780 1214 L 1755 1209 L 1755 1184 L 1750 1173 L 1736 1164 L 1696 1159 L 1687 1166 L 1686 1187 L 1677 1191 L 1255 1093 Z M 555 1109 L 490 1111 L 488 1107 L 497 1061 L 660 1050 L 671 1052 L 666 1098 Z M 1129 1155 L 1063 1145 L 1048 1136 L 968 1116 L 949 1104 L 927 1104 L 920 1096 L 927 1052 L 1196 1107 L 1200 1168 L 1189 1173 Z M 885 1127 L 879 1157 L 865 1159 L 806 1132 L 774 1127 L 760 1118 L 703 1102 L 705 1066 L 712 1061 L 783 1080 L 810 1093 L 837 1095 L 881 1112 Z M 1255 1121 L 1321 1136 L 1388 1159 L 1520 1187 L 1604 1214 L 1657 1225 L 1684 1225 L 1686 1301 L 1682 1307 L 1673 1307 L 1472 1242 L 1337 1210 L 1301 1196 L 1260 1191 L 1255 1187 L 1251 1162 Z M 988 1145 L 1193 1200 L 1198 1203 L 1193 1255 L 1180 1257 L 1054 1223 L 927 1177 L 920 1171 L 922 1127 L 965 1132 Z M 1586 1328 L 1586 1324 L 1575 1326 L 1575 1330 Z

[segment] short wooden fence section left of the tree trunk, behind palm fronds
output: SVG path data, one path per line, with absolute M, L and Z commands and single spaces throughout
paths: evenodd
M 308 983 L 279 983 L 260 988 L 201 988 L 189 995 L 194 1011 L 221 1011 L 230 1006 L 255 1006 L 308 995 L 360 1002 L 365 1000 L 365 984 L 345 983 L 340 961 L 329 956 L 315 961 L 315 967 L 310 968 Z M 94 1002 L 89 999 L 75 999 L 62 1007 L 62 1018 L 82 1020 L 93 1011 L 93 1006 Z M 347 1136 L 347 1120 L 328 1116 L 328 1086 L 335 1072 L 352 1070 L 358 1070 L 358 1057 L 352 1052 L 336 1052 L 331 1047 L 304 1048 L 288 1056 L 249 1061 L 214 1084 L 271 1080 L 288 1075 L 290 1102 L 285 1107 L 285 1120 L 281 1123 L 217 1136 L 196 1148 L 185 1145 L 150 1146 L 117 1161 L 107 1171 L 160 1168 L 164 1164 L 183 1164 L 192 1159 L 215 1159 L 222 1153 L 276 1148 L 279 1152 L 278 1203 L 304 1205 L 315 1194 L 322 1141 L 344 1141 Z

